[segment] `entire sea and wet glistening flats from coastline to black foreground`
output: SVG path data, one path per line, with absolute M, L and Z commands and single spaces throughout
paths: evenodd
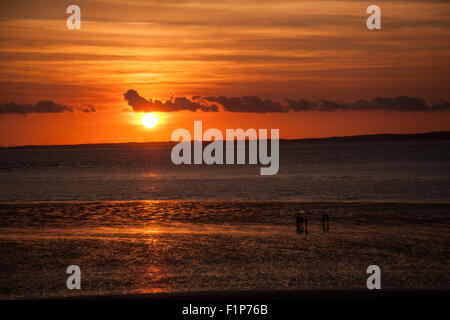
M 372 264 L 383 288 L 450 288 L 449 141 L 282 144 L 273 177 L 169 156 L 0 150 L 0 298 L 365 288 Z

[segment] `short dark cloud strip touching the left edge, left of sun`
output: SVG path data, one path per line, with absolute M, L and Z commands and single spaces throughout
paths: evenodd
M 7 102 L 0 104 L 0 114 L 28 114 L 28 113 L 63 113 L 63 112 L 96 112 L 93 105 L 86 105 L 79 108 L 57 104 L 51 100 L 39 101 L 36 104 L 23 104 Z

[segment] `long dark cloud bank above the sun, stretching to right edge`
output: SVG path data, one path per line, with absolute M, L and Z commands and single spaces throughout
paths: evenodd
M 128 90 L 124 94 L 125 100 L 135 112 L 172 112 L 172 111 L 214 111 L 243 113 L 279 113 L 279 112 L 332 112 L 332 111 L 397 111 L 397 112 L 438 112 L 450 111 L 450 103 L 441 101 L 428 104 L 425 100 L 415 97 L 375 98 L 372 100 L 358 100 L 347 103 L 342 101 L 331 101 L 322 99 L 320 101 L 309 101 L 304 99 L 285 99 L 283 102 L 262 99 L 257 96 L 225 97 L 194 96 L 192 98 L 177 97 L 166 102 L 145 99 L 135 90 Z M 211 104 L 213 103 L 213 104 Z

